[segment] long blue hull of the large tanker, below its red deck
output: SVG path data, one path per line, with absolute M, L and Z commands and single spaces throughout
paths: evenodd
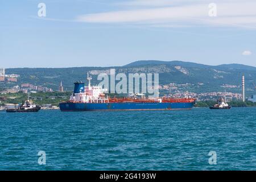
M 178 110 L 192 109 L 193 102 L 123 102 L 123 103 L 60 103 L 61 111 L 106 111 L 106 110 Z

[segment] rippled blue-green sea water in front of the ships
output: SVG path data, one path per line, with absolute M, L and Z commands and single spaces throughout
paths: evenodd
M 255 107 L 1 111 L 0 131 L 1 170 L 256 170 Z

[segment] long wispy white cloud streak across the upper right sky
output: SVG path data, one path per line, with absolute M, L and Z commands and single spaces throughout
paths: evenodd
M 167 0 L 137 0 L 130 5 L 150 5 L 154 8 L 110 11 L 106 13 L 85 14 L 77 17 L 77 21 L 90 23 L 150 23 L 151 25 L 166 23 L 171 26 L 238 26 L 256 28 L 256 2 L 246 1 L 217 1 L 217 17 L 209 16 L 209 3 L 197 0 L 191 5 L 191 0 L 180 0 L 181 5 L 168 6 Z M 178 2 L 177 0 L 172 1 Z M 224 3 L 225 2 L 225 3 Z M 129 3 L 129 2 L 127 2 Z M 164 7 L 155 7 L 155 6 Z

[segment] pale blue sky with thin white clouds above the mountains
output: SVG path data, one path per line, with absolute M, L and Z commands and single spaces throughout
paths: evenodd
M 0 0 L 0 68 L 137 60 L 256 67 L 256 1 Z

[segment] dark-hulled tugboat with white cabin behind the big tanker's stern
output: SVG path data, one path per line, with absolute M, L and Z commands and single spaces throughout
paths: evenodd
M 30 100 L 30 94 L 28 93 L 28 100 L 24 103 L 19 104 L 18 109 L 7 109 L 7 113 L 27 113 L 27 112 L 38 112 L 41 109 L 40 106 L 33 104 Z

